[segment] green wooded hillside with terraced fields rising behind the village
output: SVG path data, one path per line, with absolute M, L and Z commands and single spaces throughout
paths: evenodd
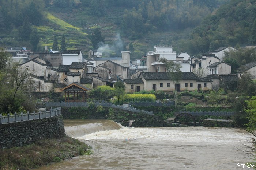
M 112 51 L 132 42 L 132 59 L 156 44 L 197 54 L 255 43 L 255 14 L 255 0 L 6 0 L 0 2 L 0 46 L 43 51 L 57 36 L 59 47 L 65 37 L 67 49 L 86 55 L 93 48 L 90 35 L 99 28 Z

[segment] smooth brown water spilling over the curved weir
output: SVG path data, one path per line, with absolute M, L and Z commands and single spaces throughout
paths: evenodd
M 82 137 L 94 132 L 118 130 L 123 126 L 112 120 L 64 120 L 65 132 L 69 137 Z

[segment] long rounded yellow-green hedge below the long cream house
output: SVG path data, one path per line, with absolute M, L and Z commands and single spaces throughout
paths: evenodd
M 156 97 L 154 94 L 127 94 L 125 97 L 125 102 L 130 101 L 144 101 L 144 102 L 154 102 Z

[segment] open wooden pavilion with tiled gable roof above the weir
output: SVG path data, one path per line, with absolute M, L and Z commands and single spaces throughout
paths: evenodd
M 60 91 L 65 91 L 65 102 L 86 102 L 87 90 L 91 90 L 91 89 L 76 82 L 69 84 L 68 86 L 60 89 Z

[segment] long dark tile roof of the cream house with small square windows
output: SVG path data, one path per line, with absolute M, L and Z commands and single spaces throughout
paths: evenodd
M 178 74 L 178 73 L 176 73 Z M 169 80 L 169 72 L 141 72 L 140 75 L 146 80 Z M 193 72 L 181 72 L 183 80 L 197 80 L 197 76 Z

